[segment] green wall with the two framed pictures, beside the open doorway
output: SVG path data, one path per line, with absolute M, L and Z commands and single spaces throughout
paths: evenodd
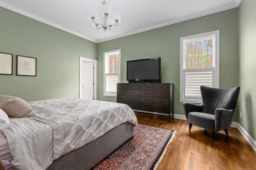
M 79 97 L 79 57 L 96 60 L 97 44 L 0 7 L 0 52 L 13 54 L 13 75 L 0 94 L 26 101 Z M 16 55 L 37 58 L 37 76 L 16 76 Z

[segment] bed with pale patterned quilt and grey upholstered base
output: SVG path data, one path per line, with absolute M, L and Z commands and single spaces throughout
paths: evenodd
M 0 132 L 7 170 L 89 170 L 132 138 L 138 124 L 125 104 L 79 98 L 28 104 L 31 116 L 9 117 L 9 127 Z

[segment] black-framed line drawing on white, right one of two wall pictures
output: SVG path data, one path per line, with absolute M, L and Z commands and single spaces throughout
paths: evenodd
M 36 76 L 36 58 L 17 55 L 17 75 Z

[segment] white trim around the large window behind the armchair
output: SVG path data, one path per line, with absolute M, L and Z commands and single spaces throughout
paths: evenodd
M 208 37 L 209 35 L 215 36 L 215 62 L 212 63 L 215 67 L 215 74 L 214 74 L 214 88 L 219 88 L 220 84 L 220 30 L 211 31 L 207 33 L 200 33 L 196 35 L 190 35 L 186 37 L 180 37 L 180 102 L 192 102 L 192 103 L 202 103 L 201 100 L 188 100 L 184 99 L 184 71 L 183 68 L 186 64 L 184 51 L 185 43 L 197 41 L 203 39 L 204 37 Z M 185 43 L 184 43 L 185 42 Z

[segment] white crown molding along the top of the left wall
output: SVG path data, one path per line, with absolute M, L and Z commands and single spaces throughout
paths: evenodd
M 6 8 L 6 9 L 8 9 L 8 10 L 11 10 L 11 11 L 13 11 L 13 12 L 17 12 L 18 14 L 22 14 L 22 15 L 27 16 L 27 17 L 29 17 L 29 18 L 32 18 L 32 19 L 34 19 L 34 20 L 40 21 L 40 22 L 42 22 L 42 23 L 46 23 L 46 24 L 48 24 L 48 25 L 51 25 L 51 26 L 53 26 L 53 27 L 56 27 L 56 28 L 61 29 L 61 30 L 63 30 L 63 31 L 66 31 L 66 32 L 68 32 L 68 33 L 77 35 L 78 37 L 82 37 L 82 38 L 84 38 L 84 39 L 87 39 L 87 40 L 89 40 L 89 41 L 92 41 L 92 42 L 94 42 L 94 43 L 97 43 L 95 39 L 92 39 L 92 38 L 90 38 L 90 37 L 87 37 L 87 36 L 85 36 L 85 35 L 82 35 L 82 34 L 80 34 L 80 33 L 77 33 L 76 31 L 73 31 L 73 30 L 68 29 L 68 28 L 66 28 L 66 27 L 63 27 L 63 26 L 61 26 L 61 25 L 58 25 L 58 24 L 56 24 L 56 23 L 54 23 L 54 22 L 52 22 L 52 21 L 46 20 L 46 19 L 44 19 L 44 18 L 41 18 L 41 17 L 39 17 L 39 16 L 36 16 L 36 15 L 34 15 L 34 14 L 31 14 L 31 13 L 29 13 L 29 12 L 26 12 L 26 11 L 24 11 L 24 10 L 21 10 L 21 9 L 19 9 L 19 8 L 16 8 L 16 7 L 14 7 L 14 6 L 11 6 L 11 5 L 9 5 L 9 4 L 6 4 L 6 3 L 4 3 L 4 2 L 1 2 L 1 1 L 0 1 L 0 6 L 2 6 L 3 8 Z

